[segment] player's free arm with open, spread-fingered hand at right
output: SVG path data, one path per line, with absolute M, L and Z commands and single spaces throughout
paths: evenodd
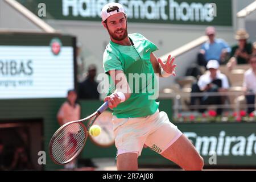
M 163 63 L 163 61 L 160 58 L 157 58 L 154 53 L 150 53 L 150 61 L 154 68 L 154 72 L 159 74 L 159 77 L 168 77 L 171 75 L 176 76 L 175 68 L 176 64 L 174 64 L 175 57 L 172 57 L 171 55 L 168 56 L 168 59 L 166 63 Z

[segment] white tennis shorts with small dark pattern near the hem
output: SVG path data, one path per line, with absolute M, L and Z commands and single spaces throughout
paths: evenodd
M 117 118 L 113 115 L 117 155 L 133 152 L 141 155 L 144 144 L 162 154 L 180 136 L 181 131 L 169 121 L 164 111 L 140 118 Z

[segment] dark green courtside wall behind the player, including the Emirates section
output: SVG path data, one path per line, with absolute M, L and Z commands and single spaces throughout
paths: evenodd
M 0 121 L 13 119 L 42 119 L 43 121 L 43 150 L 47 153 L 47 164 L 44 169 L 61 169 L 48 156 L 48 143 L 52 134 L 59 127 L 56 113 L 64 98 L 35 99 L 35 100 L 0 100 Z M 82 117 L 92 113 L 102 104 L 101 101 L 80 101 Z M 172 117 L 172 101 L 160 100 L 160 110 L 166 111 Z M 176 123 L 177 127 L 195 144 L 203 156 L 207 167 L 255 167 L 256 166 L 256 122 L 248 123 Z M 210 150 L 217 151 L 217 165 L 209 164 Z M 115 158 L 116 148 L 102 148 L 90 140 L 86 143 L 80 158 Z M 38 154 L 31 154 L 37 156 Z M 173 165 L 167 159 L 148 148 L 144 149 L 139 158 L 139 165 L 154 164 L 156 166 Z

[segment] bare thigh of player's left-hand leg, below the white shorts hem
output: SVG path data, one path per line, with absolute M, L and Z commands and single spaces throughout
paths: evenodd
M 138 154 L 133 152 L 123 153 L 117 156 L 118 171 L 137 171 Z

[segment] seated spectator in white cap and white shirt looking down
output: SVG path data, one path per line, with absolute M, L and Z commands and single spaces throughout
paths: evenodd
M 207 72 L 199 78 L 199 81 L 192 85 L 191 93 L 203 93 L 203 97 L 191 97 L 190 105 L 195 105 L 199 100 L 200 105 L 221 105 L 223 100 L 221 96 L 208 96 L 208 93 L 226 92 L 229 88 L 228 78 L 222 74 L 218 68 L 217 60 L 210 60 L 207 63 Z M 206 109 L 199 109 L 204 113 Z M 217 108 L 217 114 L 222 113 L 221 108 Z

